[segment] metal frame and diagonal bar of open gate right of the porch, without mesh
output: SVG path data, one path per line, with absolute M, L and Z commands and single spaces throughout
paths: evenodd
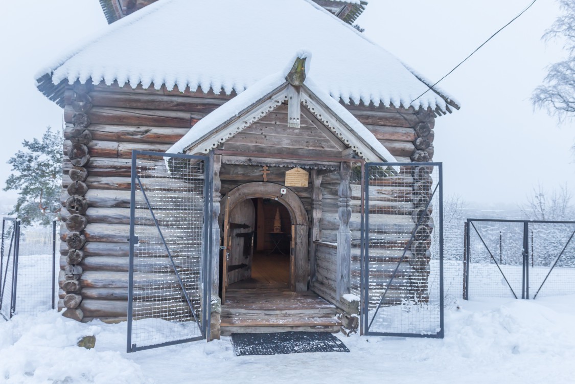
M 438 192 L 439 195 L 439 332 L 434 334 L 420 334 L 420 333 L 396 333 L 396 332 L 373 332 L 370 331 L 371 324 L 373 324 L 373 320 L 375 319 L 375 314 L 379 308 L 381 308 L 382 302 L 384 301 L 385 295 L 389 289 L 389 285 L 392 283 L 394 277 L 397 275 L 398 268 L 400 264 L 404 261 L 405 255 L 413 240 L 415 239 L 415 233 L 417 227 L 419 227 L 421 223 L 421 218 L 419 222 L 415 225 L 412 233 L 411 239 L 409 239 L 408 244 L 405 246 L 402 256 L 400 258 L 400 262 L 397 264 L 395 270 L 393 271 L 392 277 L 389 279 L 387 283 L 386 289 L 384 294 L 382 295 L 381 299 L 379 300 L 379 304 L 377 306 L 377 310 L 374 314 L 371 323 L 369 322 L 369 169 L 372 167 L 417 167 L 417 166 L 430 166 L 430 167 L 437 167 L 439 173 L 439 180 L 435 189 L 431 195 L 430 201 L 425 206 L 425 210 L 427 210 L 432 202 L 432 198 L 434 197 L 435 193 Z M 430 338 L 439 338 L 443 339 L 444 336 L 444 319 L 443 319 L 443 163 L 365 163 L 365 170 L 363 172 L 363 214 L 361 217 L 361 234 L 362 234 L 362 250 L 361 250 L 361 259 L 362 259 L 362 289 L 361 289 L 361 316 L 362 316 L 362 335 L 366 336 L 398 336 L 398 337 L 430 337 Z

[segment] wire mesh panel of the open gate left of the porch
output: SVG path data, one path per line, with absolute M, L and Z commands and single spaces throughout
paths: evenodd
M 208 167 L 204 156 L 133 152 L 129 352 L 206 334 Z

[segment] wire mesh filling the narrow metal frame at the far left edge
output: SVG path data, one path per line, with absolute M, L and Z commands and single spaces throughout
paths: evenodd
M 9 320 L 14 314 L 14 278 L 16 277 L 17 232 L 20 223 L 15 218 L 2 219 L 0 248 L 0 314 Z

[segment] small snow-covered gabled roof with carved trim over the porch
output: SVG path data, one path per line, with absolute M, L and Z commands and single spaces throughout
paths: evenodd
M 296 57 L 306 57 L 308 59 L 306 62 L 307 71 L 309 69 L 310 53 L 300 51 L 296 53 Z M 207 153 L 210 149 L 215 148 L 217 144 L 224 143 L 225 140 L 263 117 L 264 114 L 271 112 L 272 109 L 269 105 L 279 106 L 287 99 L 286 75 L 289 72 L 289 68 L 286 67 L 283 71 L 266 76 L 266 78 L 255 83 L 237 97 L 213 110 L 213 112 L 198 121 L 182 139 L 166 152 Z M 354 149 L 362 158 L 368 162 L 397 161 L 388 149 L 379 143 L 369 129 L 348 112 L 343 105 L 325 93 L 309 76 L 305 78 L 302 87 L 304 91 L 302 91 L 301 101 L 304 102 L 304 105 L 313 103 L 310 97 L 315 97 L 324 103 L 328 110 L 321 113 L 324 116 L 322 120 L 325 119 L 327 121 L 327 115 L 333 114 L 338 124 L 342 124 L 342 126 L 336 127 L 330 124 L 330 128 L 336 132 L 336 136 L 340 137 L 340 140 Z M 268 104 L 254 107 L 260 100 L 266 98 L 270 99 Z M 320 106 L 315 105 L 315 107 Z M 237 121 L 236 124 L 231 124 L 238 117 L 240 117 L 240 121 Z

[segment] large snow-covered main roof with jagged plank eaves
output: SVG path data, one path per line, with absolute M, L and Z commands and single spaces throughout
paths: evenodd
M 313 52 L 311 75 L 336 100 L 458 107 L 434 91 L 413 101 L 428 89 L 423 80 L 312 0 L 159 0 L 59 57 L 36 79 L 60 104 L 64 86 L 76 80 L 239 94 L 301 48 Z

